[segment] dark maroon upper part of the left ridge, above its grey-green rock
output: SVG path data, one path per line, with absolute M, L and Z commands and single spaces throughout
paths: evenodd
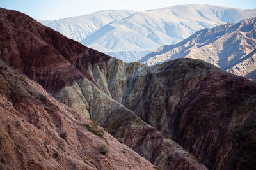
M 92 80 L 84 67 L 110 58 L 18 11 L 1 8 L 0 18 L 1 59 L 52 94 L 81 77 Z

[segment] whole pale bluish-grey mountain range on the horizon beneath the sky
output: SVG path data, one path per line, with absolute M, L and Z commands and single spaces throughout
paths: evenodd
M 105 18 L 105 12 L 96 13 L 98 20 L 71 17 L 50 22 L 47 26 L 90 48 L 132 62 L 163 45 L 178 43 L 200 29 L 256 17 L 256 10 L 189 4 L 130 12 L 116 20 L 100 22 L 98 27 L 91 26 Z

